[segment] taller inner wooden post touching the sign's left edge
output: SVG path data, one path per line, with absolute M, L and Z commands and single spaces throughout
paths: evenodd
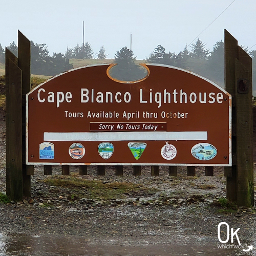
M 23 162 L 23 195 L 31 196 L 30 175 L 34 167 L 26 165 L 26 94 L 31 89 L 30 82 L 30 40 L 18 30 L 18 67 L 22 70 L 22 162 Z

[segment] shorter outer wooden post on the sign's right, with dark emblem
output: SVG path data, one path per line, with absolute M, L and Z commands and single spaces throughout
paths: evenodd
M 253 205 L 252 59 L 238 47 L 236 59 L 237 204 Z

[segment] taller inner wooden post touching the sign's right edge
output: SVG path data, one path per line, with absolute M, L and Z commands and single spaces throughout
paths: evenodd
M 236 166 L 236 98 L 235 98 L 235 59 L 238 59 L 238 41 L 224 30 L 224 58 L 225 58 L 225 90 L 232 96 L 232 166 L 224 167 L 226 177 L 226 198 L 237 201 L 237 166 Z M 234 161 L 235 159 L 235 161 Z

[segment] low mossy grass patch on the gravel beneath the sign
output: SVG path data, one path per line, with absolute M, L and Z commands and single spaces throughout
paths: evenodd
M 146 188 L 140 184 L 128 182 L 113 182 L 103 184 L 101 181 L 92 181 L 76 177 L 50 177 L 44 180 L 50 186 L 68 188 L 71 190 L 71 199 L 90 198 L 98 200 L 110 200 L 112 198 L 125 198 L 124 194 L 132 193 L 141 195 L 157 191 L 155 188 Z M 85 187 L 85 189 L 83 188 Z

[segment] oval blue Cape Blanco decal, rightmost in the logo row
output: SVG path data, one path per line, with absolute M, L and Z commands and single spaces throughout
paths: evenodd
M 216 157 L 217 149 L 209 143 L 199 143 L 191 148 L 191 154 L 198 160 L 206 161 Z

